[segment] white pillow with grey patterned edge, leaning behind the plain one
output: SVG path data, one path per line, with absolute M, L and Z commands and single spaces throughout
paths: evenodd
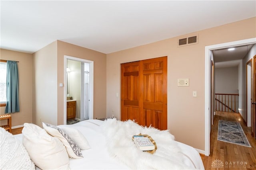
M 68 156 L 70 158 L 79 159 L 79 158 L 83 157 L 81 150 L 78 147 L 78 145 L 76 144 L 76 142 L 70 136 L 68 136 L 68 134 L 66 134 L 64 131 L 62 131 L 62 129 L 60 129 L 57 126 L 54 126 L 54 125 L 51 125 L 48 123 L 44 123 L 44 122 L 42 124 L 47 133 L 49 133 L 53 137 L 57 137 L 58 139 L 60 139 L 60 141 L 66 147 Z

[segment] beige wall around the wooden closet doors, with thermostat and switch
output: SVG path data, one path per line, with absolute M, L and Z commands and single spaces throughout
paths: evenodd
M 174 37 L 107 54 L 107 116 L 120 118 L 121 63 L 168 56 L 168 129 L 177 141 L 204 150 L 205 46 L 253 38 L 255 30 L 256 18 L 250 18 L 198 31 L 196 45 L 177 47 Z M 178 78 L 189 78 L 190 85 L 178 87 Z

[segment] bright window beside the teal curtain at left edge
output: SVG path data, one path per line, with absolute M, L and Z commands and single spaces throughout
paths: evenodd
M 6 106 L 6 62 L 0 62 L 0 106 Z

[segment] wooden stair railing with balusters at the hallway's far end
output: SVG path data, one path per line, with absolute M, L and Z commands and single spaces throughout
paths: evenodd
M 227 102 L 226 102 L 226 96 L 228 96 Z M 231 96 L 231 106 L 230 106 L 229 96 Z M 234 96 L 234 101 L 233 101 L 233 96 Z M 226 108 L 227 108 L 228 112 L 230 110 L 231 110 L 231 112 L 236 112 L 236 96 L 239 96 L 239 94 L 216 93 L 215 94 L 215 109 L 216 109 L 216 111 L 226 111 Z M 217 104 L 218 104 L 218 107 L 217 107 Z M 234 107 L 233 107 L 233 104 L 234 104 Z

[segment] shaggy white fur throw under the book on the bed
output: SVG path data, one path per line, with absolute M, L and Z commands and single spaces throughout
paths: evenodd
M 168 130 L 142 127 L 134 121 L 107 119 L 101 129 L 106 136 L 106 147 L 111 156 L 132 169 L 191 169 L 183 163 L 181 149 Z M 157 150 L 154 154 L 139 150 L 132 141 L 133 135 L 149 135 Z

